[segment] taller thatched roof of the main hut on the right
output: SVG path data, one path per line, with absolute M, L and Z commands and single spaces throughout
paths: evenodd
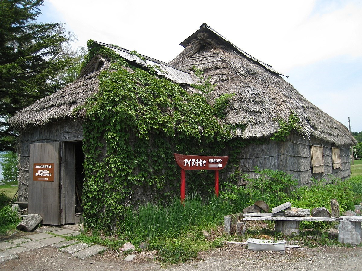
M 270 65 L 243 52 L 206 24 L 184 40 L 182 51 L 170 63 L 185 70 L 203 70 L 216 85 L 211 93 L 217 98 L 233 93 L 226 109 L 228 124 L 244 124 L 237 137 L 270 137 L 278 120 L 286 122 L 290 112 L 300 119 L 305 137 L 315 137 L 336 146 L 357 142 L 340 122 L 321 111 L 286 82 Z

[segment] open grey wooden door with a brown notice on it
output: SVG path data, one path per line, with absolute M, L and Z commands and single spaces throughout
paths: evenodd
M 59 142 L 30 144 L 29 214 L 42 224 L 60 225 Z

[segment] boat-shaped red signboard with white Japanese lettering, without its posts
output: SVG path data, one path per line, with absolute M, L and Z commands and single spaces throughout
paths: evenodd
M 173 154 L 178 166 L 185 170 L 212 169 L 219 170 L 226 167 L 229 156 L 203 156 Z

